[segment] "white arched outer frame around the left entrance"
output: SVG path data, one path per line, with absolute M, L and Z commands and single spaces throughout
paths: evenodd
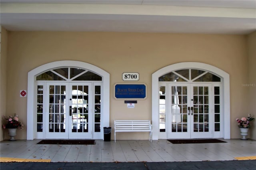
M 102 76 L 102 125 L 109 127 L 110 125 L 110 75 L 103 69 L 92 64 L 82 61 L 54 61 L 46 63 L 28 72 L 28 90 L 27 90 L 27 140 L 36 138 L 36 76 L 50 69 L 58 67 L 80 67 L 93 71 Z M 103 128 L 102 128 L 103 130 Z M 102 139 L 104 138 L 102 133 Z

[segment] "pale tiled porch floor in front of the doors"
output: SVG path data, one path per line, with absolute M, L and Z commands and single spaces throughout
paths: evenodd
M 221 139 L 223 140 L 223 139 Z M 256 140 L 231 139 L 226 143 L 172 144 L 167 140 L 96 140 L 95 145 L 36 144 L 35 140 L 4 140 L 0 157 L 49 162 L 176 162 L 256 159 Z

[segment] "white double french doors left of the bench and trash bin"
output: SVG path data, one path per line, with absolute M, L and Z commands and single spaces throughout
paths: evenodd
M 46 138 L 92 138 L 91 83 L 46 83 Z

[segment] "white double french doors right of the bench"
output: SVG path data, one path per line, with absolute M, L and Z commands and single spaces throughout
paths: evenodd
M 168 138 L 212 138 L 211 84 L 169 84 Z

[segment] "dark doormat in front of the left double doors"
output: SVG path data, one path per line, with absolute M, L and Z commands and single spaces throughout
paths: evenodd
M 41 140 L 37 144 L 95 144 L 95 140 Z

